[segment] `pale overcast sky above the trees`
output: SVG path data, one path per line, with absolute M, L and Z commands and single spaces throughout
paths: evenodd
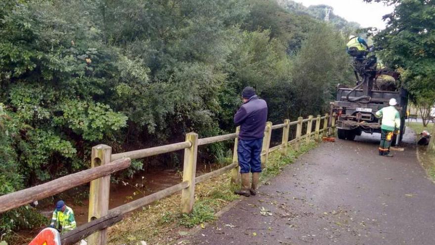
M 304 6 L 326 4 L 334 8 L 334 13 L 348 21 L 361 24 L 362 27 L 377 27 L 384 29 L 386 23 L 382 16 L 391 13 L 394 6 L 386 6 L 384 3 L 366 3 L 363 0 L 294 0 Z

